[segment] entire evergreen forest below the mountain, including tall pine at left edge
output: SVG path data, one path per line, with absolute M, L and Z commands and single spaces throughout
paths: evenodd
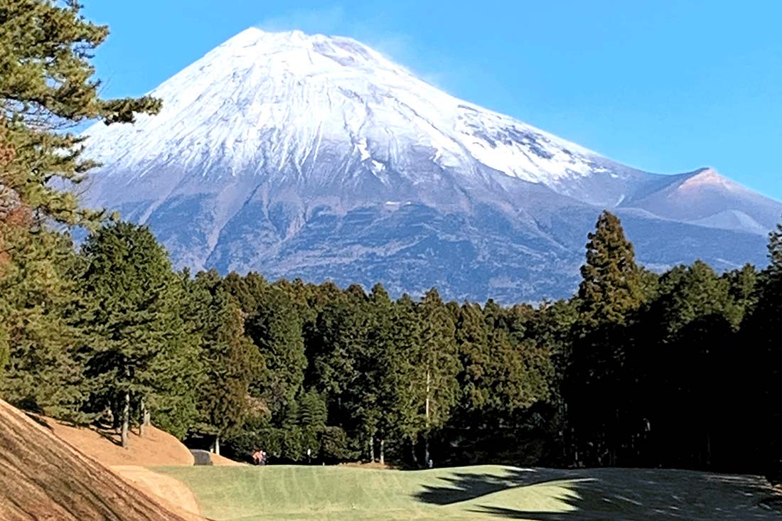
M 534 305 L 174 271 L 149 229 L 75 195 L 93 165 L 73 125 L 160 108 L 99 99 L 106 34 L 74 2 L 0 0 L 6 401 L 272 462 L 779 474 L 782 225 L 765 268 L 657 274 L 605 211 L 578 292 Z

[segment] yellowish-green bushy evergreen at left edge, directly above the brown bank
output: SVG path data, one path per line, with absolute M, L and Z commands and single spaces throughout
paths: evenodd
M 0 275 L 0 323 L 9 362 L 3 364 L 0 393 L 23 408 L 87 421 L 81 413 L 86 399 L 83 361 L 77 352 L 81 332 L 71 318 L 77 311 L 79 268 L 70 238 L 6 229 L 13 233 L 15 247 Z

